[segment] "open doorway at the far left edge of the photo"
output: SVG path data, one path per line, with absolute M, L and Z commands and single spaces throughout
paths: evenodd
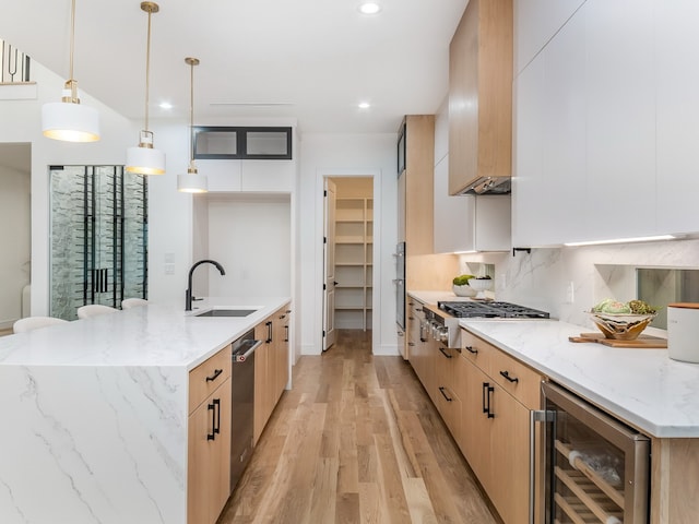
M 0 144 L 0 334 L 31 314 L 32 144 Z

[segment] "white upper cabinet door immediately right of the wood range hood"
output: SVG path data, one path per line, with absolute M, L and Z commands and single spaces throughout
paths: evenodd
M 584 235 L 584 28 L 582 17 L 569 21 L 514 84 L 514 247 Z

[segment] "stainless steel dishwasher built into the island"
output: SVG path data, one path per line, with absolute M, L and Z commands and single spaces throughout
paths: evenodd
M 235 489 L 252 455 L 252 420 L 254 406 L 254 350 L 262 341 L 254 330 L 233 343 L 230 402 L 230 492 Z

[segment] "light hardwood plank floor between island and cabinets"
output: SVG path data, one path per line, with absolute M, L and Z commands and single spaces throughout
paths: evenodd
M 218 524 L 498 522 L 410 364 L 370 341 L 300 358 Z

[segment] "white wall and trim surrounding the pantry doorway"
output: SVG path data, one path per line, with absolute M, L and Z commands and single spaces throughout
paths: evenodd
M 395 329 L 396 134 L 304 134 L 298 194 L 300 352 L 321 353 L 322 340 L 322 178 L 374 176 L 375 354 L 398 355 Z

